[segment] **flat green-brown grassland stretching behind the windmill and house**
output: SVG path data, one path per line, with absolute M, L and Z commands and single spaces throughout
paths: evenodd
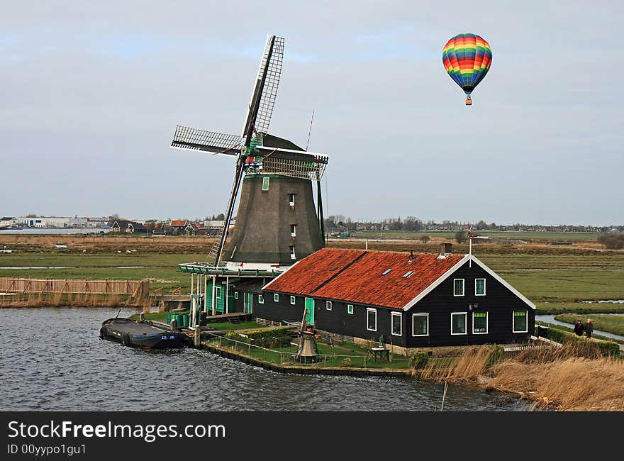
M 543 234 L 555 238 L 548 233 Z M 581 246 L 479 244 L 474 245 L 474 254 L 535 302 L 538 313 L 624 312 L 624 304 L 582 302 L 624 299 L 624 251 L 605 251 L 590 240 L 582 240 L 589 234 L 567 235 L 581 239 L 575 242 L 575 245 L 578 243 Z M 372 238 L 372 235 L 369 237 Z M 436 233 L 432 237 L 438 238 L 439 235 Z M 205 260 L 213 241 L 205 237 L 72 235 L 63 240 L 69 248 L 59 249 L 55 248 L 59 238 L 58 235 L 0 234 L 0 244 L 13 249 L 10 254 L 0 253 L 0 277 L 150 279 L 152 290 L 162 288 L 166 292 L 179 288 L 182 293 L 187 293 L 190 277 L 177 272 L 177 265 L 180 262 Z M 362 242 L 348 239 L 330 242 L 330 246 L 342 248 L 363 248 L 362 245 Z M 454 251 L 467 251 L 465 246 L 454 245 Z M 407 246 L 401 242 L 375 242 L 369 243 L 369 248 L 404 251 L 414 248 L 416 251 L 437 252 L 439 242 Z

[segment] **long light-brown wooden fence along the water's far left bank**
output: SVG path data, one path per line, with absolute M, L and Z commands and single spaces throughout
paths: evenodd
M 150 294 L 149 280 L 59 280 L 0 277 L 0 293 Z

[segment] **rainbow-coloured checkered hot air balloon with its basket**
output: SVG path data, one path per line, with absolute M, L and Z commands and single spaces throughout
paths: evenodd
M 466 105 L 472 106 L 472 90 L 484 79 L 492 63 L 489 43 L 474 33 L 455 35 L 442 50 L 442 63 L 466 93 Z

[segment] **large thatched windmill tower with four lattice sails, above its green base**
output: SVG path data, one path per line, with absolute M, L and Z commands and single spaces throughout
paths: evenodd
M 284 38 L 269 35 L 240 135 L 177 126 L 172 148 L 235 158 L 223 228 L 208 253 L 212 267 L 290 265 L 323 248 L 321 178 L 328 156 L 268 133 L 282 74 Z M 317 185 L 315 208 L 312 184 Z M 240 204 L 226 247 L 236 199 Z

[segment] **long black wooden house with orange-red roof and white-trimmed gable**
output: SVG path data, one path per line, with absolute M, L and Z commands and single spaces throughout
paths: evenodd
M 535 304 L 474 255 L 325 248 L 250 290 L 253 316 L 306 323 L 396 352 L 438 345 L 520 343 Z

